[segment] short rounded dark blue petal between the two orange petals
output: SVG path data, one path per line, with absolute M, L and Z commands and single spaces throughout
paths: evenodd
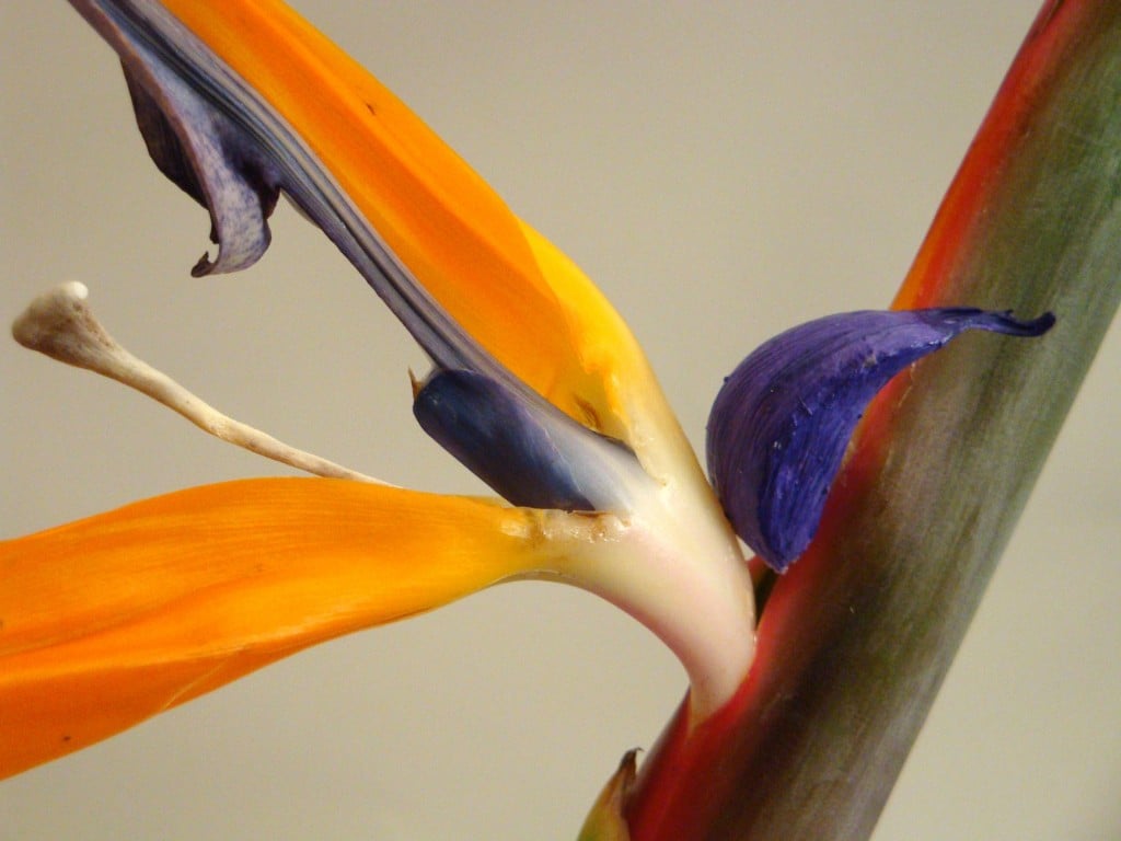
M 540 398 L 472 371 L 437 371 L 419 388 L 421 428 L 513 505 L 569 511 L 626 505 L 649 481 L 634 454 Z

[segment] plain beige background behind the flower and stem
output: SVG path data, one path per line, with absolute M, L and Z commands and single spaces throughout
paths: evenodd
M 696 444 L 769 334 L 883 305 L 1035 13 L 974 3 L 297 3 L 425 115 L 628 318 Z M 423 358 L 289 209 L 240 276 L 187 276 L 109 49 L 4 3 L 10 321 L 80 278 L 128 346 L 217 406 L 395 482 L 478 490 L 415 427 Z M 1114 330 L 877 833 L 1121 837 Z M 0 534 L 275 472 L 0 342 Z M 2 586 L 2 582 L 0 582 Z M 853 680 L 859 680 L 854 675 Z M 0 785 L 0 839 L 574 838 L 683 691 L 642 629 L 515 585 L 280 664 Z

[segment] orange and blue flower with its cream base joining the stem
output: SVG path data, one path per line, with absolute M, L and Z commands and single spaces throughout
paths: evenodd
M 720 709 L 751 664 L 750 575 L 638 344 L 580 269 L 282 3 L 73 4 L 121 57 L 151 157 L 211 213 L 217 252 L 194 274 L 256 261 L 288 195 L 432 358 L 421 425 L 535 508 L 254 480 L 6 542 L 0 721 L 20 727 L 0 770 L 519 577 L 628 610 L 682 659 L 695 718 Z

